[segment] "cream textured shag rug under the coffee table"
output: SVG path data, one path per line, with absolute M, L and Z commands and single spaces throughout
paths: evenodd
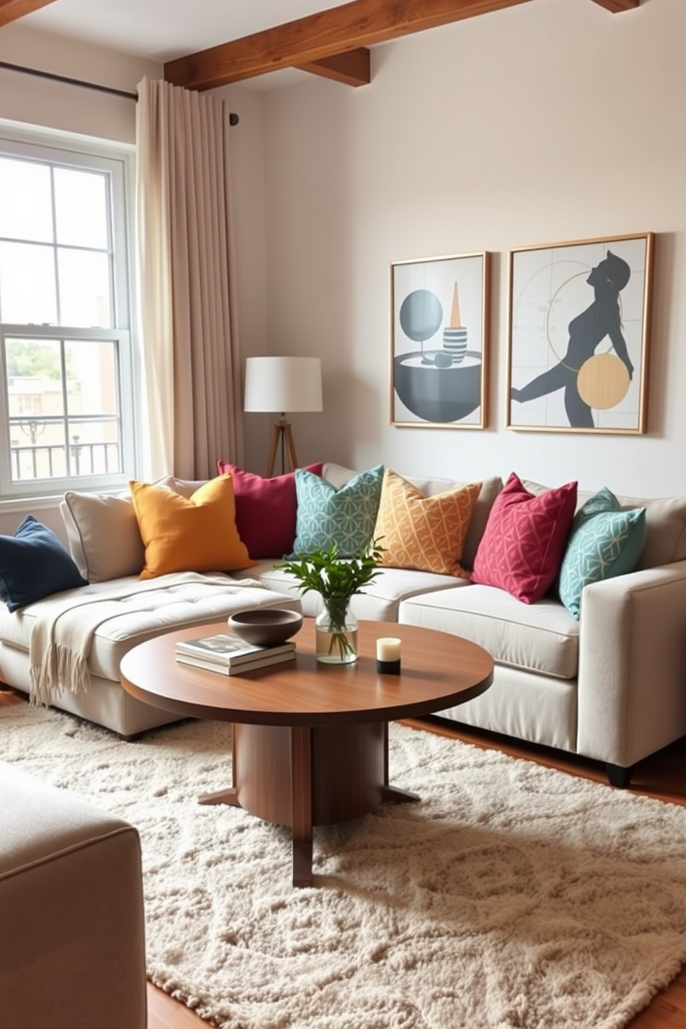
M 227 726 L 0 710 L 0 757 L 138 826 L 151 980 L 231 1029 L 616 1029 L 686 960 L 686 810 L 391 728 L 393 806 L 315 837 L 196 794 Z M 1 803 L 1 799 L 0 799 Z

